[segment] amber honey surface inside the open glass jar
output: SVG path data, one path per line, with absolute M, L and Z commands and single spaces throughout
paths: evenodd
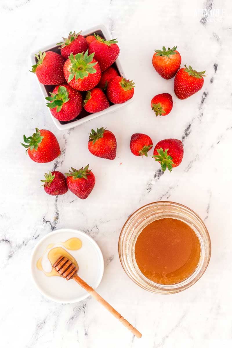
M 183 221 L 159 219 L 148 224 L 135 243 L 135 260 L 143 275 L 171 285 L 193 274 L 201 254 L 199 239 Z

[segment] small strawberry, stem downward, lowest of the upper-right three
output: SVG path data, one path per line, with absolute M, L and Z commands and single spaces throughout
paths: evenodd
M 173 98 L 169 93 L 155 95 L 151 100 L 151 109 L 155 116 L 167 115 L 173 108 Z

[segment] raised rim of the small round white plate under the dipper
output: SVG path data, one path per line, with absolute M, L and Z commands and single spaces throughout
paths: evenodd
M 102 277 L 103 277 L 103 274 L 104 274 L 104 259 L 103 259 L 103 254 L 102 254 L 102 251 L 100 249 L 100 247 L 98 246 L 98 244 L 95 242 L 95 240 L 90 237 L 89 235 L 87 235 L 85 232 L 83 231 L 80 231 L 78 229 L 72 229 L 72 228 L 59 228 L 55 231 L 51 231 L 49 232 L 48 234 L 46 234 L 45 236 L 43 236 L 38 243 L 35 244 L 33 250 L 32 250 L 32 253 L 31 253 L 31 259 L 30 259 L 30 269 L 31 269 L 31 278 L 32 278 L 32 281 L 35 285 L 35 287 L 37 288 L 37 290 L 43 295 L 45 296 L 47 299 L 51 300 L 51 301 L 54 301 L 54 302 L 57 302 L 57 303 L 77 303 L 77 302 L 80 302 L 84 299 L 86 299 L 88 296 L 89 296 L 89 293 L 86 292 L 86 294 L 82 295 L 82 296 L 79 296 L 77 299 L 73 299 L 73 300 L 70 300 L 70 301 L 64 301 L 64 300 L 59 300 L 57 298 L 54 299 L 53 296 L 50 296 L 46 293 L 46 291 L 44 291 L 38 284 L 38 282 L 35 280 L 35 277 L 34 277 L 34 256 L 35 256 L 35 252 L 37 251 L 38 247 L 44 242 L 44 240 L 46 238 L 48 238 L 48 236 L 53 236 L 53 235 L 56 235 L 57 233 L 59 232 L 74 232 L 74 233 L 77 233 L 84 236 L 85 238 L 89 239 L 91 243 L 93 243 L 93 245 L 95 246 L 96 250 L 97 250 L 97 253 L 98 253 L 98 256 L 100 258 L 100 262 L 99 262 L 99 278 L 97 280 L 97 283 L 94 287 L 94 289 L 96 289 L 99 284 L 101 283 L 102 281 Z

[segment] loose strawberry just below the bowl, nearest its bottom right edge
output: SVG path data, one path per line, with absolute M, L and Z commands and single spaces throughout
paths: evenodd
M 97 128 L 89 133 L 89 151 L 97 157 L 114 159 L 116 157 L 117 141 L 112 132 L 106 128 Z

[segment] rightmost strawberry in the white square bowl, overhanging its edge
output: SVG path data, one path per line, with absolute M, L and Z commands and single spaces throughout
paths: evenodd
M 134 95 L 135 84 L 121 76 L 115 76 L 109 81 L 106 89 L 107 98 L 113 104 L 125 103 Z

